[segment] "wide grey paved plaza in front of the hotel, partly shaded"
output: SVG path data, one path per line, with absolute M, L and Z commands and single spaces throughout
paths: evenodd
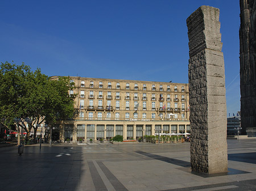
M 256 190 L 256 139 L 228 140 L 228 173 L 192 173 L 189 142 L 0 147 L 0 190 Z

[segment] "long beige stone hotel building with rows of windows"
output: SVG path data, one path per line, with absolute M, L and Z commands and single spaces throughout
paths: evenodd
M 52 77 L 55 79 L 57 77 Z M 138 139 L 143 135 L 190 132 L 188 84 L 71 77 L 75 120 L 62 121 L 60 138 Z

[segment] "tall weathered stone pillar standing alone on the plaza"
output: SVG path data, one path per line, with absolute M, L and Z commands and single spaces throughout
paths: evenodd
M 192 171 L 228 171 L 220 10 L 201 6 L 187 19 Z

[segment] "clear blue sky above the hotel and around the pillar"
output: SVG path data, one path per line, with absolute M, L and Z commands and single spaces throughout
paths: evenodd
M 233 115 L 240 111 L 238 0 L 1 0 L 0 61 L 48 76 L 188 83 L 186 19 L 201 5 L 220 9 Z

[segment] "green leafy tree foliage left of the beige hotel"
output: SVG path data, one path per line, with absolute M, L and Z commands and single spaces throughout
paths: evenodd
M 0 118 L 10 127 L 19 119 L 27 135 L 43 121 L 49 125 L 57 119 L 72 118 L 74 96 L 69 96 L 73 84 L 68 77 L 51 80 L 40 69 L 31 71 L 29 66 L 1 62 L 0 69 Z M 30 121 L 28 127 L 25 121 Z

